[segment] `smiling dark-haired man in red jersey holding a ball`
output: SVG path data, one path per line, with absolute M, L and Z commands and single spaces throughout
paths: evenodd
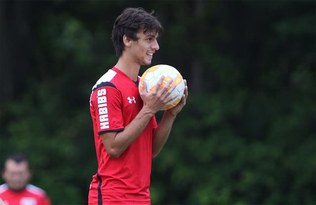
M 142 8 L 127 8 L 114 23 L 112 40 L 117 64 L 93 86 L 90 113 L 93 121 L 98 171 L 90 184 L 89 205 L 150 205 L 152 158 L 166 142 L 173 121 L 186 103 L 166 110 L 159 125 L 155 113 L 174 97 L 171 81 L 159 90 L 138 92 L 139 69 L 150 65 L 159 49 L 162 26 Z M 130 99 L 133 99 L 131 101 Z

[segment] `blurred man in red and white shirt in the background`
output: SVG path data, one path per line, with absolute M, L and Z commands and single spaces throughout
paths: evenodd
M 32 177 L 29 161 L 23 154 L 9 156 L 4 162 L 0 198 L 5 205 L 50 205 L 44 190 L 28 184 Z

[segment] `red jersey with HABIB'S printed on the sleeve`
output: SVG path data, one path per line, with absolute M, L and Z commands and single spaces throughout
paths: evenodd
M 138 81 L 139 81 L 138 77 Z M 150 174 L 155 115 L 141 135 L 117 158 L 109 156 L 100 134 L 120 132 L 143 107 L 134 82 L 118 68 L 109 69 L 93 86 L 90 113 L 98 171 L 90 184 L 89 205 L 150 205 Z

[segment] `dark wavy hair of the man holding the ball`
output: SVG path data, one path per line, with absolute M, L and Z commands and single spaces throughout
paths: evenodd
M 146 12 L 143 8 L 126 8 L 114 22 L 112 31 L 112 41 L 115 52 L 118 57 L 124 50 L 123 35 L 130 37 L 132 40 L 138 40 L 136 34 L 143 32 L 154 32 L 161 34 L 163 27 L 158 19 L 151 13 Z

